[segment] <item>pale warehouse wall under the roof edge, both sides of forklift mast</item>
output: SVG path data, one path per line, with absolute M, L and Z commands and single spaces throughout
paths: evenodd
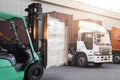
M 24 9 L 32 2 L 31 0 L 0 0 L 0 11 L 8 11 L 11 13 L 17 13 L 23 16 L 26 16 L 27 13 Z M 101 20 L 102 25 L 105 26 L 106 29 L 110 30 L 113 25 L 120 26 L 120 20 L 100 16 L 92 13 L 87 13 L 84 11 L 73 10 L 69 8 L 59 7 L 47 3 L 43 3 L 43 12 L 57 11 L 67 14 L 72 14 L 74 16 L 74 20 L 76 19 L 86 19 L 91 18 L 95 20 Z

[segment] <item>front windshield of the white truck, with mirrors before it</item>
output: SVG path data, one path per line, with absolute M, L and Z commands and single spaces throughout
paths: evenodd
M 108 33 L 98 33 L 95 37 L 95 42 L 98 45 L 111 45 Z

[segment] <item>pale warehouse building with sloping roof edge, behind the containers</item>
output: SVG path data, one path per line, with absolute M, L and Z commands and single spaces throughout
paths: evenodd
M 0 10 L 26 16 L 27 13 L 24 9 L 33 2 L 42 3 L 44 13 L 56 11 L 73 15 L 74 20 L 99 20 L 107 30 L 111 30 L 111 27 L 114 25 L 120 26 L 119 13 L 85 3 L 78 3 L 74 0 L 0 0 Z

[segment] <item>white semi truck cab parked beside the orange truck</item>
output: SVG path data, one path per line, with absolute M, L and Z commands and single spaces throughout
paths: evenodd
M 69 53 L 69 62 L 87 67 L 89 63 L 101 66 L 112 62 L 112 47 L 109 33 L 103 26 L 87 21 L 79 21 L 76 49 Z

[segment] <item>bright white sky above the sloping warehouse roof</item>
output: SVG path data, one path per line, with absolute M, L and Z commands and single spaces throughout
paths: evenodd
M 120 13 L 120 0 L 74 0 Z

